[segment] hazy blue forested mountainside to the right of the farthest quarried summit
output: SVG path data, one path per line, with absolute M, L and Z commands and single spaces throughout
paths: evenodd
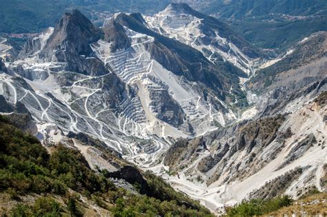
M 313 32 L 327 30 L 324 0 L 210 1 L 201 11 L 227 21 L 259 48 L 286 50 Z

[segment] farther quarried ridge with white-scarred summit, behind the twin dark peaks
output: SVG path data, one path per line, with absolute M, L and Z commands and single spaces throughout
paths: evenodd
M 150 28 L 199 50 L 219 65 L 229 61 L 250 74 L 256 59 L 264 54 L 239 37 L 226 23 L 190 8 L 172 3 L 153 17 L 146 17 Z

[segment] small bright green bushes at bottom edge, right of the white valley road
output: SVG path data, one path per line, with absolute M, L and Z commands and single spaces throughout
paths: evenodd
M 289 196 L 279 196 L 270 199 L 244 200 L 235 207 L 227 207 L 227 216 L 259 216 L 276 211 L 281 207 L 291 205 L 293 200 Z

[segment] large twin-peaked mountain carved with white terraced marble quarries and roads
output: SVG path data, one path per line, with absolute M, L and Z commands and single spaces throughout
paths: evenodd
M 153 153 L 174 138 L 234 121 L 232 106 L 246 105 L 245 74 L 145 22 L 118 14 L 97 28 L 81 12 L 67 12 L 6 60 L 1 94 L 25 104 L 39 129 L 49 122 L 64 135 L 90 134 L 141 165 L 154 163 Z M 238 99 L 243 104 L 232 105 Z

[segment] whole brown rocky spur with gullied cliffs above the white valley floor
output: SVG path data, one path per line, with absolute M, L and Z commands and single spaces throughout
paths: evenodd
M 283 116 L 262 118 L 257 121 L 246 123 L 245 125 L 239 125 L 233 135 L 227 136 L 225 133 L 223 136 L 217 136 L 211 134 L 205 136 L 205 138 L 177 142 L 166 154 L 166 165 L 174 167 L 175 165 L 180 165 L 185 159 L 184 166 L 187 166 L 189 162 L 194 161 L 192 158 L 198 158 L 199 154 L 197 154 L 197 156 L 192 156 L 195 151 L 203 153 L 206 152 L 206 147 L 211 146 L 211 153 L 207 153 L 206 156 L 197 159 L 199 160 L 197 163 L 199 172 L 206 173 L 212 169 L 211 173 L 213 176 L 209 178 L 209 183 L 215 182 L 220 176 L 227 175 L 228 177 L 224 180 L 227 183 L 230 180 L 246 178 L 259 171 L 259 169 L 266 165 L 268 160 L 272 161 L 279 153 L 279 149 L 281 149 L 282 145 L 279 145 L 279 149 L 276 149 L 275 152 L 265 156 L 266 163 L 259 163 L 264 159 L 258 158 L 257 155 L 263 152 L 265 147 L 270 145 L 277 137 L 281 138 L 281 134 L 277 132 L 283 122 Z M 212 138 L 212 136 L 214 137 Z M 212 146 L 212 144 L 215 143 L 217 143 L 217 145 Z M 187 155 L 185 153 L 187 153 Z M 237 158 L 240 153 L 244 155 L 243 158 L 239 159 L 237 162 L 234 160 L 230 161 L 231 159 Z M 174 156 L 177 156 L 177 158 Z M 229 174 L 230 172 L 233 173 Z

